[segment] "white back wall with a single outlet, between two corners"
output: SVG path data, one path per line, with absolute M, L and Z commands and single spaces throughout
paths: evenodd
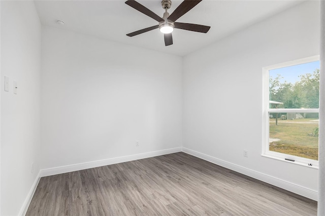
M 181 147 L 181 72 L 181 57 L 43 26 L 41 168 Z

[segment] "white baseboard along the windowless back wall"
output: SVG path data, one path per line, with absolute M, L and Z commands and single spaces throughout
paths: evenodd
M 160 156 L 160 155 L 167 155 L 167 154 L 172 154 L 172 153 L 181 152 L 181 151 L 182 151 L 181 147 L 173 148 L 173 149 L 166 149 L 166 150 L 147 152 L 147 153 L 142 153 L 142 154 L 137 154 L 137 155 L 128 155 L 128 156 L 110 158 L 110 159 L 99 160 L 99 161 L 92 161 L 92 162 L 73 164 L 73 165 L 68 165 L 68 166 L 54 167 L 54 168 L 50 168 L 50 169 L 42 169 L 40 171 L 40 173 L 41 173 L 41 177 L 44 177 L 44 176 L 49 176 L 49 175 L 56 175 L 56 174 L 61 174 L 61 173 L 66 173 L 66 172 L 78 171 L 78 170 L 82 170 L 82 169 L 89 169 L 89 168 L 106 166 L 106 165 L 111 165 L 111 164 L 116 164 L 116 163 L 123 163 L 123 162 L 127 162 L 127 161 L 134 161 L 134 160 L 139 160 L 139 159 L 144 159 L 144 158 L 150 158 L 150 157 L 155 157 L 155 156 Z

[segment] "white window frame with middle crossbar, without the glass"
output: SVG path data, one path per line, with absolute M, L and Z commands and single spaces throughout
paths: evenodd
M 319 109 L 271 109 L 269 106 L 269 70 L 319 61 L 319 55 L 263 67 L 263 134 L 262 156 L 318 169 L 318 161 L 269 150 L 269 113 L 319 113 Z M 293 159 L 289 161 L 285 159 Z

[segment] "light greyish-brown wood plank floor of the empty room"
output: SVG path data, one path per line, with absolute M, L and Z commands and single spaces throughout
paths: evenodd
M 26 215 L 316 215 L 317 202 L 175 153 L 42 177 Z

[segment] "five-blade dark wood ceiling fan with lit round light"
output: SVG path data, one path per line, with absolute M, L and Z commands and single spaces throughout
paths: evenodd
M 144 7 L 140 3 L 136 2 L 135 0 L 127 0 L 125 2 L 126 5 L 131 6 L 132 8 L 140 11 L 141 13 L 151 17 L 152 19 L 158 22 L 158 25 L 154 25 L 148 28 L 144 28 L 138 31 L 134 31 L 132 33 L 126 34 L 128 37 L 133 37 L 135 35 L 159 28 L 161 32 L 164 33 L 165 39 L 165 46 L 169 46 L 173 44 L 173 37 L 172 31 L 174 28 L 189 30 L 189 31 L 197 31 L 202 33 L 207 33 L 210 29 L 210 26 L 206 25 L 198 25 L 192 23 L 182 23 L 182 22 L 175 22 L 178 18 L 183 16 L 193 7 L 198 5 L 202 0 L 184 0 L 176 9 L 175 11 L 169 15 L 167 12 L 168 9 L 172 6 L 171 0 L 163 0 L 161 1 L 161 6 L 165 9 L 165 13 L 163 17 L 159 17 L 157 14 L 150 11 L 148 8 Z

